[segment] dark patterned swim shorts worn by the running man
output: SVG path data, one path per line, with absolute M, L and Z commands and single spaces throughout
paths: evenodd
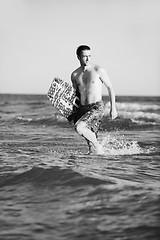
M 87 127 L 97 133 L 104 115 L 104 103 L 99 101 L 92 104 L 81 105 L 72 115 L 71 121 L 76 124 L 77 121 L 83 121 Z M 70 121 L 70 120 L 69 120 Z

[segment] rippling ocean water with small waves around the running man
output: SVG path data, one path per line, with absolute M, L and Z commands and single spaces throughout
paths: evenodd
M 159 100 L 107 105 L 100 156 L 45 95 L 1 94 L 0 239 L 160 239 Z

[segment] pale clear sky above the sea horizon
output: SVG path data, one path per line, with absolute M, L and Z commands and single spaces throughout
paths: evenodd
M 159 0 L 0 0 L 0 36 L 0 93 L 70 82 L 86 44 L 116 95 L 160 96 Z

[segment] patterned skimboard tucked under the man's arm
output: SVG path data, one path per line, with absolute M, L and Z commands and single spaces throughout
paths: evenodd
M 53 79 L 47 97 L 52 105 L 67 119 L 73 114 L 74 109 L 79 107 L 79 98 L 75 89 L 60 78 Z

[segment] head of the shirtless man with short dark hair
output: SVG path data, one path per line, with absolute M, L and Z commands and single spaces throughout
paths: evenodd
M 81 45 L 77 48 L 76 51 L 77 57 L 83 66 L 89 65 L 89 61 L 91 58 L 91 49 L 87 45 Z

